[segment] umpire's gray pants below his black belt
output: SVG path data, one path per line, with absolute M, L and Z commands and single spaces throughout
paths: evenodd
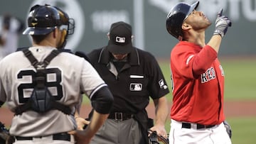
M 139 123 L 134 118 L 125 121 L 107 119 L 90 144 L 143 144 L 142 141 Z

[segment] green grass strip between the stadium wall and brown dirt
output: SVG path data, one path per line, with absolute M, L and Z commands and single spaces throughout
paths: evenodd
M 256 99 L 256 58 L 220 58 L 225 72 L 225 100 Z M 169 60 L 159 61 L 171 90 Z M 171 100 L 171 94 L 168 99 Z

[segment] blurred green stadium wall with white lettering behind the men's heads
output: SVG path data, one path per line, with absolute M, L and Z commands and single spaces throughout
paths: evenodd
M 0 13 L 10 13 L 26 21 L 34 4 L 51 4 L 67 11 L 75 19 L 75 34 L 66 48 L 90 52 L 107 44 L 111 23 L 125 21 L 133 27 L 134 45 L 154 53 L 156 57 L 169 58 L 171 48 L 177 43 L 166 31 L 166 16 L 174 4 L 182 0 L 2 0 Z M 188 4 L 195 0 L 186 0 Z M 255 0 L 201 0 L 198 11 L 215 23 L 216 14 L 223 13 L 233 26 L 225 36 L 220 55 L 255 55 L 256 2 Z M 0 19 L 1 21 L 1 19 Z M 214 24 L 206 31 L 210 38 Z M 30 45 L 26 35 L 20 36 L 20 46 Z

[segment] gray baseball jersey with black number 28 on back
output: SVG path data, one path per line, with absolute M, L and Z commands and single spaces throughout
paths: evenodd
M 36 59 L 43 61 L 55 48 L 31 47 Z M 107 84 L 100 78 L 89 62 L 69 52 L 60 52 L 51 60 L 47 69 L 47 86 L 57 101 L 75 111 L 75 105 L 84 92 L 90 99 L 97 89 Z M 24 104 L 33 91 L 36 70 L 22 51 L 14 52 L 0 61 L 0 101 L 14 112 L 16 106 Z M 10 133 L 19 136 L 43 136 L 72 131 L 76 128 L 72 115 L 58 110 L 46 113 L 25 111 L 14 116 Z

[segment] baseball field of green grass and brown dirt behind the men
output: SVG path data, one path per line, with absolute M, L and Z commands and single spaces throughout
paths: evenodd
M 166 81 L 171 88 L 168 60 L 159 60 Z M 220 58 L 225 72 L 225 116 L 230 123 L 233 144 L 255 144 L 256 141 L 256 57 L 223 57 Z M 169 94 L 169 105 L 172 96 Z M 90 104 L 84 99 L 80 111 L 82 117 L 87 117 Z M 147 107 L 149 117 L 154 118 L 154 105 Z M 0 109 L 0 121 L 9 126 L 14 114 L 3 106 Z M 169 132 L 170 120 L 166 122 Z

